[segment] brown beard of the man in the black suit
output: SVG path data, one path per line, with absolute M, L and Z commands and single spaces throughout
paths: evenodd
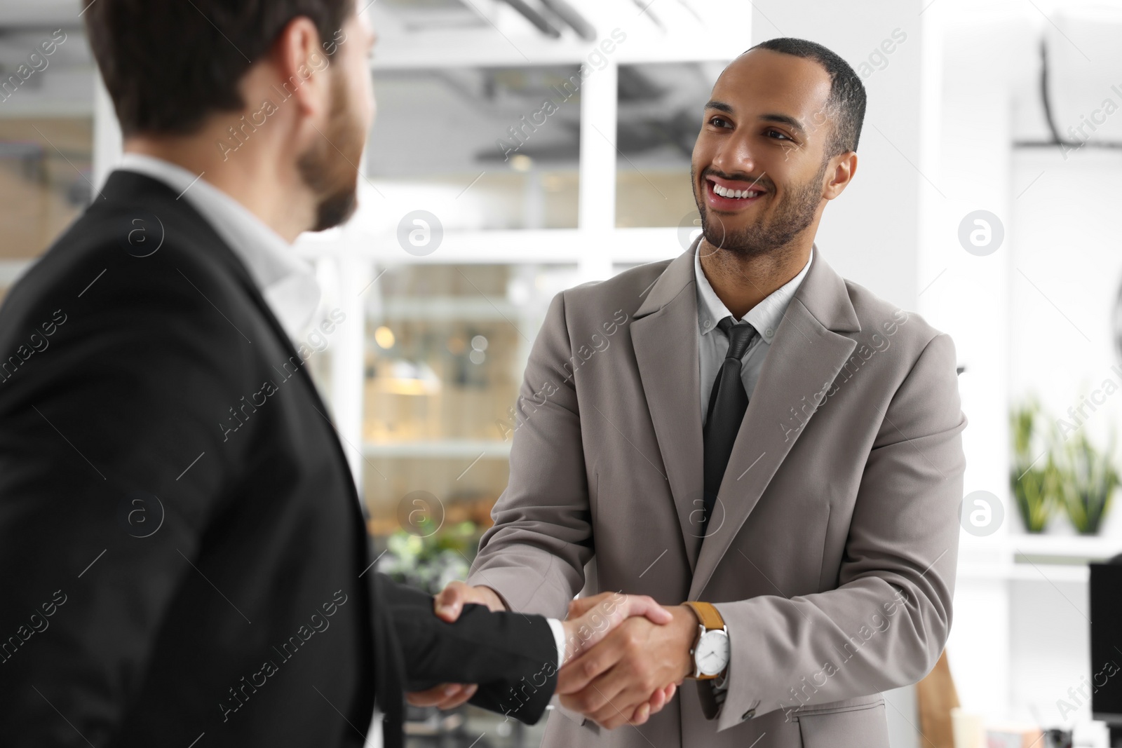
M 312 231 L 343 223 L 358 206 L 357 167 L 366 133 L 348 104 L 347 86 L 337 71 L 331 83 L 327 132 L 296 161 L 301 179 L 318 196 Z

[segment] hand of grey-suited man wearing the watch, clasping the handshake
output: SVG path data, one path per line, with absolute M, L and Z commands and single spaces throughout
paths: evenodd
M 561 703 L 610 730 L 640 717 L 659 690 L 680 684 L 693 671 L 689 653 L 698 619 L 686 606 L 669 610 L 671 622 L 628 618 L 567 662 L 558 675 Z

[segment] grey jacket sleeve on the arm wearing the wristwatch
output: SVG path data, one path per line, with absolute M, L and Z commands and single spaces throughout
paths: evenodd
M 922 678 L 950 630 L 966 465 L 950 338 L 934 338 L 884 414 L 837 589 L 718 603 L 729 630 L 717 728 Z

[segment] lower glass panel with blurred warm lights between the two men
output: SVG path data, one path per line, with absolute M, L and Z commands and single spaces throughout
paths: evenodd
M 475 530 L 506 488 L 513 421 L 532 341 L 571 265 L 411 265 L 369 292 L 364 463 L 370 529 L 407 527 L 415 491 L 444 528 Z M 401 514 L 402 507 L 404 516 Z M 432 507 L 430 507 L 432 508 Z M 475 553 L 468 543 L 466 556 Z

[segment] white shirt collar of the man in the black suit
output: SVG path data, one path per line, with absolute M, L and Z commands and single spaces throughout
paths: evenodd
M 125 154 L 118 168 L 163 182 L 191 203 L 249 270 L 274 315 L 296 341 L 320 305 L 312 267 L 292 244 L 237 200 L 185 168 L 142 154 Z

